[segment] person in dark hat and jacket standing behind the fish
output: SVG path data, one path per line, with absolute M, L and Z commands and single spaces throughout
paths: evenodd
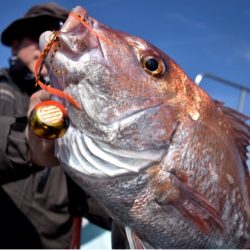
M 54 3 L 35 5 L 1 35 L 12 56 L 10 68 L 0 70 L 0 248 L 74 247 L 70 245 L 73 216 L 111 227 L 110 217 L 62 168 L 48 168 L 58 165 L 53 155 L 46 154 L 42 164 L 31 161 L 25 138 L 30 96 L 39 90 L 34 76 L 39 36 L 60 29 L 68 14 Z M 40 75 L 46 82 L 47 71 L 41 70 Z M 32 148 L 35 155 L 43 153 L 40 141 Z M 53 152 L 53 144 L 46 145 Z M 88 207 L 93 208 L 92 214 Z

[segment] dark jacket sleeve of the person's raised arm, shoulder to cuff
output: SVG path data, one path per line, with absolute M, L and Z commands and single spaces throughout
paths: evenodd
M 2 72 L 2 71 L 1 71 Z M 29 161 L 25 139 L 27 109 L 8 76 L 0 72 L 0 185 L 23 179 L 41 170 Z M 27 101 L 28 102 L 28 101 Z M 26 104 L 27 104 L 26 102 Z M 17 112 L 17 110 L 23 110 Z M 18 115 L 19 113 L 19 115 Z M 20 116 L 20 118 L 17 118 Z

